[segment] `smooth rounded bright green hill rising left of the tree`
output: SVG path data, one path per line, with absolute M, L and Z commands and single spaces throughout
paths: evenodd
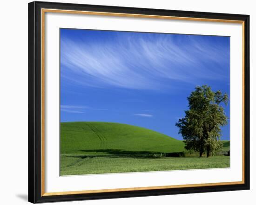
M 172 153 L 184 151 L 184 144 L 153 130 L 127 124 L 61 122 L 61 154 L 113 154 L 114 151 Z

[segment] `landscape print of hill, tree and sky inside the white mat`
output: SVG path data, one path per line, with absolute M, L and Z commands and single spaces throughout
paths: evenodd
M 60 175 L 229 167 L 229 37 L 60 29 Z

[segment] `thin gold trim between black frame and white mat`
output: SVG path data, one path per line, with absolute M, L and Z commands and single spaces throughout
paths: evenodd
M 187 184 L 187 185 L 171 185 L 171 186 L 147 186 L 147 187 L 133 187 L 133 188 L 117 188 L 117 189 L 100 189 L 100 190 L 84 190 L 84 191 L 69 191 L 69 192 L 45 192 L 45 13 L 69 13 L 69 14 L 87 14 L 87 15 L 101 15 L 101 16 L 119 16 L 119 17 L 135 17 L 135 18 L 151 18 L 151 19 L 172 19 L 172 20 L 192 20 L 192 21 L 206 21 L 206 22 L 222 22 L 222 23 L 237 23 L 242 24 L 242 181 L 235 182 L 217 182 L 204 184 Z M 161 15 L 145 15 L 145 14 L 131 14 L 131 13 L 109 13 L 109 12 L 91 12 L 91 11 L 74 11 L 61 9 L 41 9 L 41 196 L 56 196 L 68 194 L 83 194 L 83 193 L 103 193 L 103 192 L 123 192 L 123 191 L 138 191 L 138 190 L 153 190 L 153 189 L 170 189 L 170 188 L 184 188 L 184 187 L 199 187 L 199 186 L 224 186 L 224 185 L 239 185 L 244 184 L 244 21 L 243 20 L 229 20 L 229 19 L 204 19 L 204 18 L 190 18 L 190 17 L 175 17 L 175 16 L 161 16 Z

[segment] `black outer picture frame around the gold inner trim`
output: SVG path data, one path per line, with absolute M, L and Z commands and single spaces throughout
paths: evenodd
M 244 22 L 244 183 L 196 186 L 168 189 L 150 189 L 101 193 L 65 195 L 42 195 L 42 144 L 41 144 L 41 8 L 93 11 L 108 13 L 130 13 L 143 15 L 174 16 L 202 19 L 239 20 Z M 222 192 L 249 189 L 249 15 L 227 13 L 204 13 L 162 9 L 132 8 L 119 6 L 97 6 L 54 2 L 31 2 L 28 4 L 28 201 L 32 203 L 112 199 L 125 197 L 156 196 L 167 194 Z

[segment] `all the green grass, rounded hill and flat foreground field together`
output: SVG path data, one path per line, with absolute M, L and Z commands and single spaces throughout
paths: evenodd
M 223 141 L 223 151 L 229 141 Z M 61 175 L 229 167 L 229 156 L 199 158 L 182 141 L 126 124 L 61 123 Z

